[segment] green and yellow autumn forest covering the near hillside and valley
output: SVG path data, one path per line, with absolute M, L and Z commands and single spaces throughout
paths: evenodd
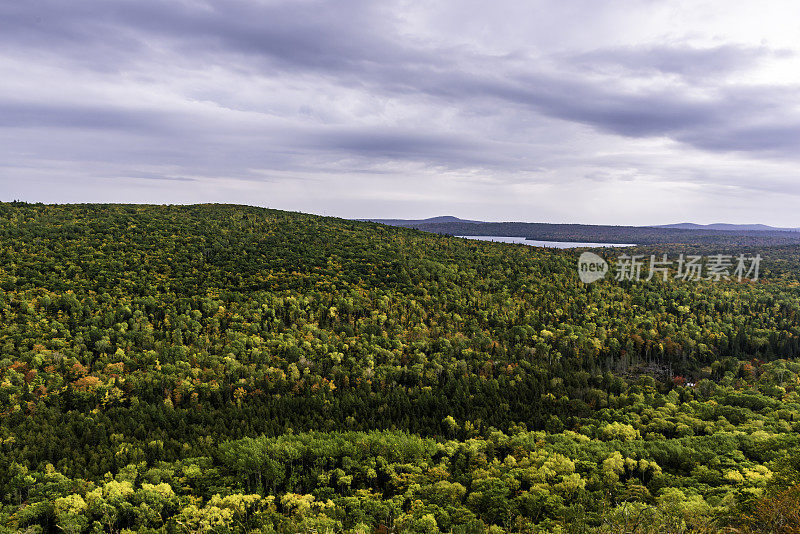
M 0 523 L 796 532 L 774 244 L 639 250 L 757 252 L 757 282 L 587 285 L 576 251 L 374 223 L 0 204 Z

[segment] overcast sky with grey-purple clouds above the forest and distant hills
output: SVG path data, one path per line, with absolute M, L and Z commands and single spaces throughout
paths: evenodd
M 0 199 L 800 226 L 800 2 L 0 0 Z

